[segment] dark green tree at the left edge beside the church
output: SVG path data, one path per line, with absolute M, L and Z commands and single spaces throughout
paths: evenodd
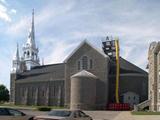
M 9 90 L 4 85 L 0 85 L 0 102 L 9 101 Z

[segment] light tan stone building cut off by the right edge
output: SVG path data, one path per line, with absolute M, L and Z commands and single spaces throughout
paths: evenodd
M 159 111 L 159 57 L 160 43 L 152 42 L 148 52 L 148 66 L 149 66 L 149 100 L 150 110 Z

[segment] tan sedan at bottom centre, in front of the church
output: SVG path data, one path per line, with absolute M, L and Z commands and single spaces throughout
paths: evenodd
M 36 116 L 34 120 L 92 120 L 81 110 L 52 110 L 48 115 Z

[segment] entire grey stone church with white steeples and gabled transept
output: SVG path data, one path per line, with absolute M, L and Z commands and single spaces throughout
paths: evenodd
M 28 39 L 12 61 L 10 101 L 17 105 L 106 109 L 115 102 L 115 62 L 103 49 L 83 41 L 59 64 L 41 65 L 34 11 Z M 132 107 L 148 99 L 148 73 L 120 57 L 119 97 Z

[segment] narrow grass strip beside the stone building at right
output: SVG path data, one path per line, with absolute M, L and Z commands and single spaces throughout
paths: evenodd
M 160 112 L 132 111 L 132 115 L 160 115 Z

